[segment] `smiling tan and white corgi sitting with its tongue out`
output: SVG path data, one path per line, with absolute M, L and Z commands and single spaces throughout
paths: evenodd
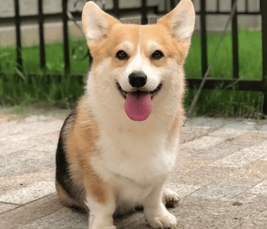
M 183 65 L 195 11 L 182 0 L 156 24 L 122 24 L 93 1 L 82 27 L 93 57 L 85 93 L 62 126 L 56 190 L 89 212 L 89 229 L 142 206 L 152 228 L 174 229 L 177 194 L 164 187 L 184 122 Z

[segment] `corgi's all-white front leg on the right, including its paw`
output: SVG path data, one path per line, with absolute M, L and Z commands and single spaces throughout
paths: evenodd
M 174 229 L 176 218 L 162 203 L 163 184 L 160 183 L 144 200 L 144 218 L 152 228 Z

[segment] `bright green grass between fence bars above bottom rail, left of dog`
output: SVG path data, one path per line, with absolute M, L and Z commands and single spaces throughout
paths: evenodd
M 78 48 L 76 48 L 78 47 Z M 71 74 L 86 74 L 89 71 L 88 58 L 81 61 L 76 61 L 72 58 L 72 50 L 75 48 L 75 55 L 78 58 L 84 56 L 87 51 L 85 40 L 70 40 L 69 55 L 70 55 L 70 71 Z M 81 50 L 79 50 L 81 48 Z M 16 51 L 14 47 L 0 48 L 0 65 L 1 72 L 14 73 L 16 66 Z M 22 69 L 25 74 L 42 74 L 40 67 L 40 52 L 39 46 L 25 47 L 21 50 Z M 47 74 L 64 73 L 64 53 L 63 45 L 60 42 L 47 44 L 45 46 L 46 55 L 46 70 Z

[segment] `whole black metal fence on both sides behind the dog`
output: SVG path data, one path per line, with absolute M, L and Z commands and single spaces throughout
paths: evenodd
M 179 1 L 179 0 L 178 0 Z M 232 0 L 232 4 L 235 0 Z M 170 8 L 174 8 L 177 3 L 177 0 L 169 0 Z M 207 29 L 206 29 L 206 17 L 209 14 L 229 14 L 230 11 L 221 11 L 219 8 L 219 0 L 216 0 L 216 10 L 207 11 L 206 10 L 206 0 L 200 0 L 200 11 L 196 11 L 196 14 L 200 15 L 200 36 L 201 36 L 201 69 L 202 77 L 204 76 L 206 70 L 208 69 L 208 60 L 207 60 Z M 166 0 L 165 0 L 166 4 Z M 65 74 L 70 73 L 70 55 L 69 55 L 69 37 L 68 37 L 68 20 L 70 18 L 67 14 L 67 0 L 62 0 L 62 12 L 61 13 L 43 13 L 43 2 L 38 0 L 38 15 L 28 15 L 21 16 L 19 15 L 19 0 L 14 0 L 15 5 L 15 16 L 13 17 L 0 17 L 0 22 L 9 22 L 14 21 L 16 27 L 16 56 L 17 56 L 17 66 L 21 68 L 22 66 L 22 57 L 21 57 L 21 31 L 20 25 L 22 21 L 37 21 L 39 24 L 39 43 L 40 43 L 40 66 L 45 70 L 46 58 L 45 58 L 45 40 L 44 40 L 44 20 L 53 19 L 53 18 L 62 18 L 63 22 L 63 52 L 64 52 L 64 71 Z M 248 11 L 248 0 L 245 0 L 245 10 L 244 11 L 235 11 L 232 23 L 231 23 L 231 32 L 232 32 L 232 63 L 233 63 L 233 77 L 232 79 L 221 79 L 221 78 L 208 78 L 204 89 L 214 89 L 219 85 L 222 87 L 231 88 L 231 85 L 235 85 L 237 90 L 253 90 L 253 91 L 262 91 L 264 93 L 264 104 L 263 111 L 267 114 L 267 0 L 260 0 L 259 12 L 249 12 Z M 141 23 L 146 24 L 148 22 L 148 10 L 153 10 L 155 14 L 165 13 L 159 12 L 157 5 L 147 6 L 146 0 L 141 0 L 141 7 L 139 8 L 128 8 L 123 9 L 123 12 L 141 12 L 142 19 Z M 114 15 L 119 18 L 121 10 L 119 9 L 119 1 L 113 0 L 113 8 L 106 10 L 107 13 Z M 75 11 L 71 12 L 73 17 L 81 18 L 81 12 Z M 263 47 L 263 76 L 262 79 L 253 79 L 245 80 L 239 79 L 239 63 L 238 63 L 238 31 L 237 31 L 237 16 L 238 15 L 261 15 L 262 16 L 262 47 Z M 89 57 L 90 59 L 90 57 Z M 90 63 L 90 61 L 89 61 Z M 22 70 L 22 69 L 20 69 Z M 201 78 L 187 78 L 188 87 L 195 88 L 198 87 L 201 83 Z

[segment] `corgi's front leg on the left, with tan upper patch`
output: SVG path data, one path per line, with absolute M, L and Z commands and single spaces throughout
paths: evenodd
M 87 191 L 85 204 L 89 208 L 89 229 L 116 229 L 112 218 L 116 208 L 113 187 L 98 177 L 85 179 L 85 187 Z

